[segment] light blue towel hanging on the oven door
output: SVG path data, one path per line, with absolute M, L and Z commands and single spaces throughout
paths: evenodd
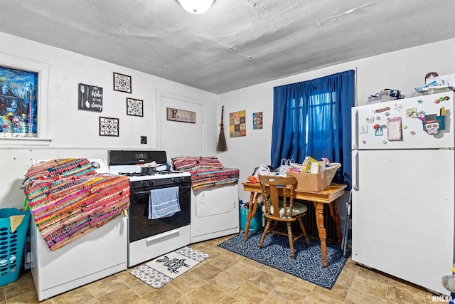
M 150 190 L 149 219 L 172 216 L 178 211 L 178 187 Z

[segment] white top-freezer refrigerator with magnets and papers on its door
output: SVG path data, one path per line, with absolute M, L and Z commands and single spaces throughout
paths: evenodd
M 454 92 L 352 110 L 353 261 L 449 295 Z

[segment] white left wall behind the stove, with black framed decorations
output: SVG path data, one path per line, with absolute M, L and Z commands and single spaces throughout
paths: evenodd
M 24 58 L 25 61 L 49 66 L 48 88 L 43 90 L 48 90 L 48 137 L 52 140 L 48 146 L 22 145 L 21 142 L 11 144 L 11 140 L 2 141 L 1 134 L 0 207 L 22 205 L 24 194 L 20 189 L 21 182 L 32 159 L 106 158 L 107 150 L 160 149 L 155 132 L 157 91 L 205 104 L 205 125 L 213 126 L 206 130 L 205 153 L 215 154 L 218 136 L 215 130 L 218 123 L 216 95 L 5 33 L 0 33 L 0 41 L 0 56 Z M 113 90 L 113 72 L 132 76 L 132 94 Z M 102 112 L 77 110 L 78 83 L 97 85 L 103 89 Z M 144 117 L 126 114 L 127 97 L 144 100 Z M 119 118 L 119 137 L 98 135 L 100 116 Z M 141 135 L 147 136 L 147 145 L 140 144 Z M 185 147 L 191 142 L 178 134 L 172 140 L 181 142 L 181 156 L 185 155 Z

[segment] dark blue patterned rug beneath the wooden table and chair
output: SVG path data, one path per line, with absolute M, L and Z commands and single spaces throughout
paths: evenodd
M 247 241 L 242 233 L 218 246 L 327 289 L 332 289 L 348 260 L 348 255 L 343 258 L 339 246 L 327 243 L 328 266 L 323 267 L 321 243 L 309 239 L 310 247 L 307 247 L 303 237 L 294 242 L 296 258 L 292 260 L 287 236 L 268 234 L 262 249 L 259 249 L 262 233 L 263 230 L 250 231 Z

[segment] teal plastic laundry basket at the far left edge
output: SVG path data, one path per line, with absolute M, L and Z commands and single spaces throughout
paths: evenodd
M 11 221 L 23 215 L 21 224 L 11 232 Z M 0 209 L 0 286 L 19 278 L 23 246 L 26 241 L 30 212 L 16 208 Z

